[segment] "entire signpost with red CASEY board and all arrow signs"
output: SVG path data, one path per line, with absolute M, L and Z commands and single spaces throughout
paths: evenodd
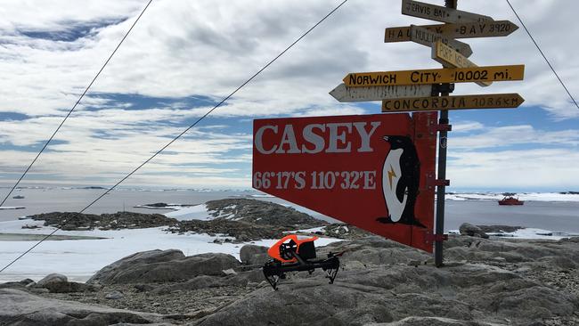
M 349 73 L 330 92 L 338 102 L 381 101 L 388 114 L 254 120 L 254 188 L 434 251 L 442 266 L 448 111 L 515 109 L 524 102 L 519 94 L 450 96 L 454 83 L 490 86 L 525 75 L 524 65 L 478 67 L 467 59 L 470 46 L 456 38 L 505 37 L 518 27 L 456 10 L 456 2 L 402 0 L 403 14 L 444 24 L 385 31 L 386 43 L 430 46 L 442 69 Z

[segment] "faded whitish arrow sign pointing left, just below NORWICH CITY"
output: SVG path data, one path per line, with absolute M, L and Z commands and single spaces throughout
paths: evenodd
M 330 95 L 339 102 L 382 101 L 401 97 L 423 97 L 431 94 L 431 85 L 348 87 L 340 84 L 330 92 Z

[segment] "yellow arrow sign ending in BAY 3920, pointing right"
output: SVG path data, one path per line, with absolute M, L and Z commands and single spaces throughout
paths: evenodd
M 485 22 L 464 22 L 456 24 L 423 25 L 422 29 L 442 34 L 448 38 L 469 37 L 506 37 L 518 29 L 518 26 L 509 20 Z M 411 27 L 402 26 L 388 28 L 384 33 L 384 42 L 406 42 L 411 40 Z

